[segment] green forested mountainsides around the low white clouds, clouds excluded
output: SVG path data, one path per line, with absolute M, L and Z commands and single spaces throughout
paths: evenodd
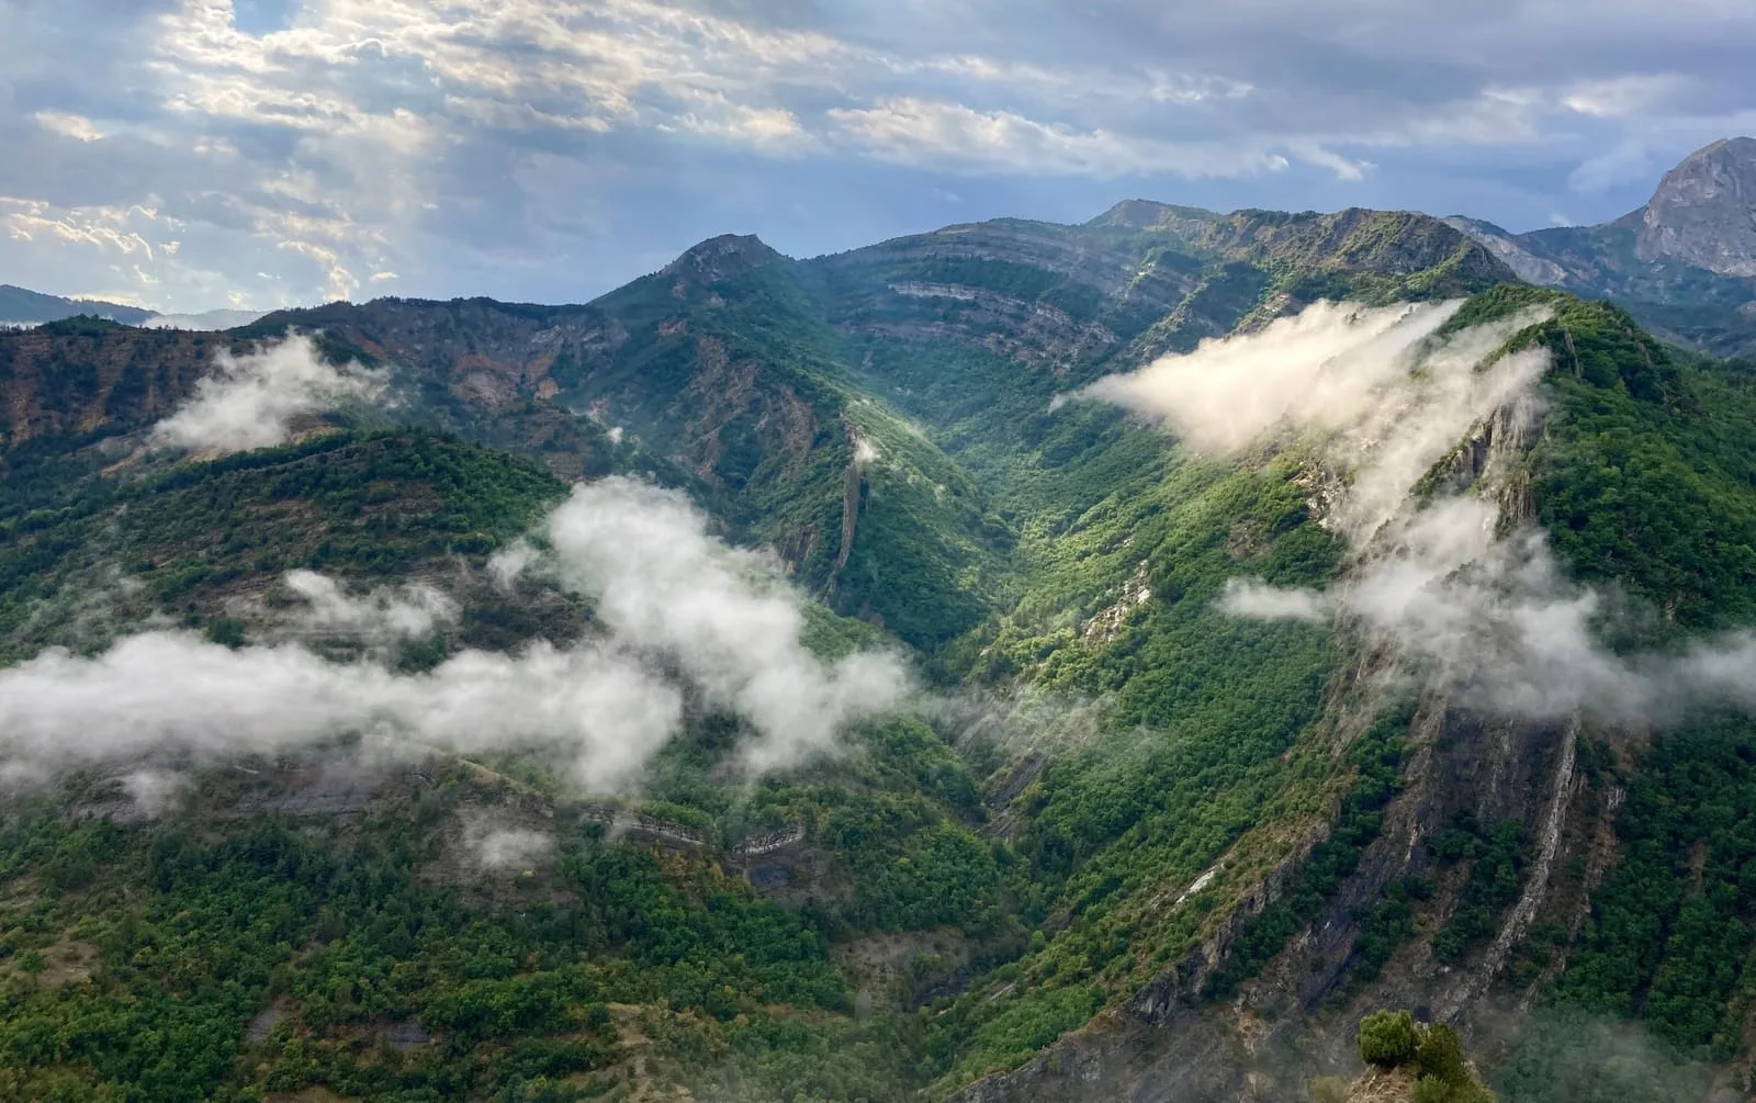
M 715 239 L 576 307 L 0 335 L 9 659 L 167 620 L 239 646 L 290 569 L 444 588 L 399 669 L 564 645 L 592 602 L 486 559 L 565 479 L 644 472 L 778 552 L 817 653 L 882 629 L 938 690 L 755 783 L 699 694 L 618 797 L 513 752 L 367 769 L 353 736 L 21 790 L 0 1096 L 1287 1099 L 1352 1075 L 1377 1006 L 1457 1022 L 1507 1099 L 1747 1084 L 1747 713 L 1512 718 L 1347 620 L 1227 615 L 1231 580 L 1373 569 L 1321 436 L 1222 458 L 1054 402 L 1331 295 L 1468 295 L 1442 335 L 1517 318 L 1496 355 L 1551 355 L 1542 430 L 1472 425 L 1422 487 L 1540 529 L 1607 653 L 1756 618 L 1747 372 L 1410 214 L 1133 202 L 808 262 Z M 139 446 L 288 325 L 392 404 Z M 186 790 L 148 818 L 158 771 Z M 1644 1059 L 1568 1054 L 1612 1031 Z

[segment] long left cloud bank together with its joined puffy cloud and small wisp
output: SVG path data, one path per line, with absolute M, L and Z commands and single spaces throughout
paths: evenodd
M 690 692 L 755 731 L 739 750 L 748 776 L 831 752 L 848 725 L 910 692 L 892 655 L 824 664 L 806 652 L 801 599 L 757 557 L 711 537 L 678 494 L 630 479 L 583 485 L 544 536 L 553 550 L 527 555 L 523 569 L 595 597 L 601 638 L 516 655 L 464 650 L 423 673 L 176 631 L 130 636 L 97 657 L 51 650 L 0 671 L 0 775 L 160 752 L 277 752 L 358 732 L 388 750 L 530 750 L 585 790 L 616 792 L 683 731 Z M 356 638 L 423 634 L 455 616 L 423 588 L 356 597 L 309 573 L 288 585 L 309 601 L 309 625 Z

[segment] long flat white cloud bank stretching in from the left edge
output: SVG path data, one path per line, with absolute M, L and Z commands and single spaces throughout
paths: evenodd
M 297 645 L 228 650 L 144 632 L 86 659 L 0 671 L 0 748 L 49 771 L 156 752 L 277 752 L 348 732 L 458 753 L 546 750 L 609 790 L 678 729 L 681 692 L 599 646 L 464 652 L 425 674 L 335 664 Z

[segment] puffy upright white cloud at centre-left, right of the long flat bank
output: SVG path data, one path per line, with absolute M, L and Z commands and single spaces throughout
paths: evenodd
M 757 731 L 741 750 L 753 773 L 824 753 L 850 724 L 904 703 L 910 681 L 896 655 L 811 655 L 799 643 L 797 594 L 757 557 L 709 537 L 706 520 L 650 483 L 583 483 L 543 529 L 553 552 L 525 569 L 595 601 L 615 639 L 676 662 L 713 704 L 745 717 Z

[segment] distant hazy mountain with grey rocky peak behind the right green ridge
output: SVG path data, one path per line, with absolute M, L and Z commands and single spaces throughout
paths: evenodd
M 1644 207 L 1596 227 L 1510 234 L 1445 221 L 1521 279 L 1614 299 L 1666 337 L 1721 357 L 1756 351 L 1756 139 L 1696 149 Z

